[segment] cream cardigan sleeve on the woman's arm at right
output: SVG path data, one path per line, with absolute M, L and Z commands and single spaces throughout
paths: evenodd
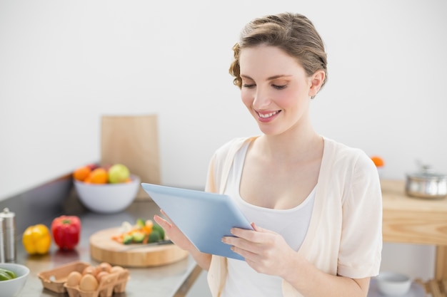
M 376 276 L 381 264 L 382 195 L 376 166 L 358 152 L 346 174 L 338 271 L 342 276 Z

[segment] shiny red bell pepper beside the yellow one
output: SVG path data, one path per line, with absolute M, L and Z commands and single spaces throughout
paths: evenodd
M 51 223 L 51 233 L 59 249 L 74 249 L 79 243 L 81 220 L 76 216 L 56 217 Z

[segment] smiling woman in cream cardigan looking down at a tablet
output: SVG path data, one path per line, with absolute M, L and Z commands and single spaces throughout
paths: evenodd
M 216 151 L 206 190 L 231 196 L 253 230 L 222 241 L 245 261 L 202 254 L 154 219 L 208 272 L 213 296 L 366 296 L 381 262 L 381 189 L 361 150 L 318 135 L 311 100 L 327 78 L 323 41 L 300 14 L 255 19 L 230 73 L 261 135 Z

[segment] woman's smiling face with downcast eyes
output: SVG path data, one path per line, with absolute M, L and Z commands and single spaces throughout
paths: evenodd
M 316 81 L 295 58 L 275 46 L 243 48 L 241 98 L 261 131 L 278 135 L 308 120 Z

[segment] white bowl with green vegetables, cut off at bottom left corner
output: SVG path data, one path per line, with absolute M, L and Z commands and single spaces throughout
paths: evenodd
M 29 268 L 15 263 L 0 263 L 0 268 L 8 269 L 16 273 L 16 278 L 8 281 L 0 281 L 0 297 L 19 296 L 22 288 L 24 288 L 26 279 L 29 276 Z

